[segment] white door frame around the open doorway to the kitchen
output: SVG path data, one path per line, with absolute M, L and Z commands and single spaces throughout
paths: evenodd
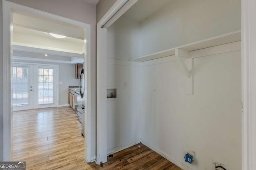
M 2 0 L 3 12 L 3 160 L 12 160 L 12 10 L 28 12 L 45 18 L 51 18 L 57 21 L 62 21 L 77 25 L 84 28 L 84 37 L 86 37 L 86 54 L 84 61 L 86 63 L 86 81 L 85 88 L 87 89 L 87 113 L 85 119 L 86 140 L 84 142 L 84 159 L 86 162 L 92 162 L 93 150 L 91 149 L 91 136 L 94 136 L 91 128 L 91 26 L 88 23 L 72 20 L 55 14 L 50 14 L 41 10 L 36 10 L 20 4 L 15 4 L 7 0 Z

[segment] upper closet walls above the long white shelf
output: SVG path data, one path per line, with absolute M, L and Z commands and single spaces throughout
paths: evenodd
M 241 0 L 172 0 L 142 21 L 121 16 L 108 28 L 108 56 L 128 61 L 240 30 L 240 20 Z

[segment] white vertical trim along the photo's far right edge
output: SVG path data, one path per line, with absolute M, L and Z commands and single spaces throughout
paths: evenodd
M 255 8 L 255 0 L 242 0 L 242 170 L 256 170 Z

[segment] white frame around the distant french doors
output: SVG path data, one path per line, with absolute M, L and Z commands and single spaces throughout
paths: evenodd
M 40 64 L 40 63 L 27 63 L 27 62 L 16 62 L 16 61 L 14 61 L 13 64 L 32 65 L 33 66 L 33 71 L 34 71 L 34 65 L 38 65 L 38 66 L 54 66 L 54 67 L 56 67 L 57 68 L 57 88 L 56 88 L 56 90 L 57 90 L 57 104 L 56 104 L 56 107 L 59 107 L 59 84 L 58 84 L 58 82 L 59 82 L 59 65 L 58 64 Z M 34 79 L 34 74 L 33 74 L 33 79 Z M 34 89 L 34 81 L 33 81 L 33 89 Z M 37 108 L 34 108 L 34 100 L 33 100 L 33 109 L 37 109 Z

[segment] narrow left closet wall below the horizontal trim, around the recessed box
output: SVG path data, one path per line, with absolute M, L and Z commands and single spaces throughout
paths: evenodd
M 138 66 L 107 64 L 107 86 L 118 86 L 117 98 L 107 99 L 108 153 L 113 152 L 117 147 L 136 143 L 140 139 L 140 119 L 137 109 L 138 71 Z M 127 86 L 124 86 L 125 82 Z

